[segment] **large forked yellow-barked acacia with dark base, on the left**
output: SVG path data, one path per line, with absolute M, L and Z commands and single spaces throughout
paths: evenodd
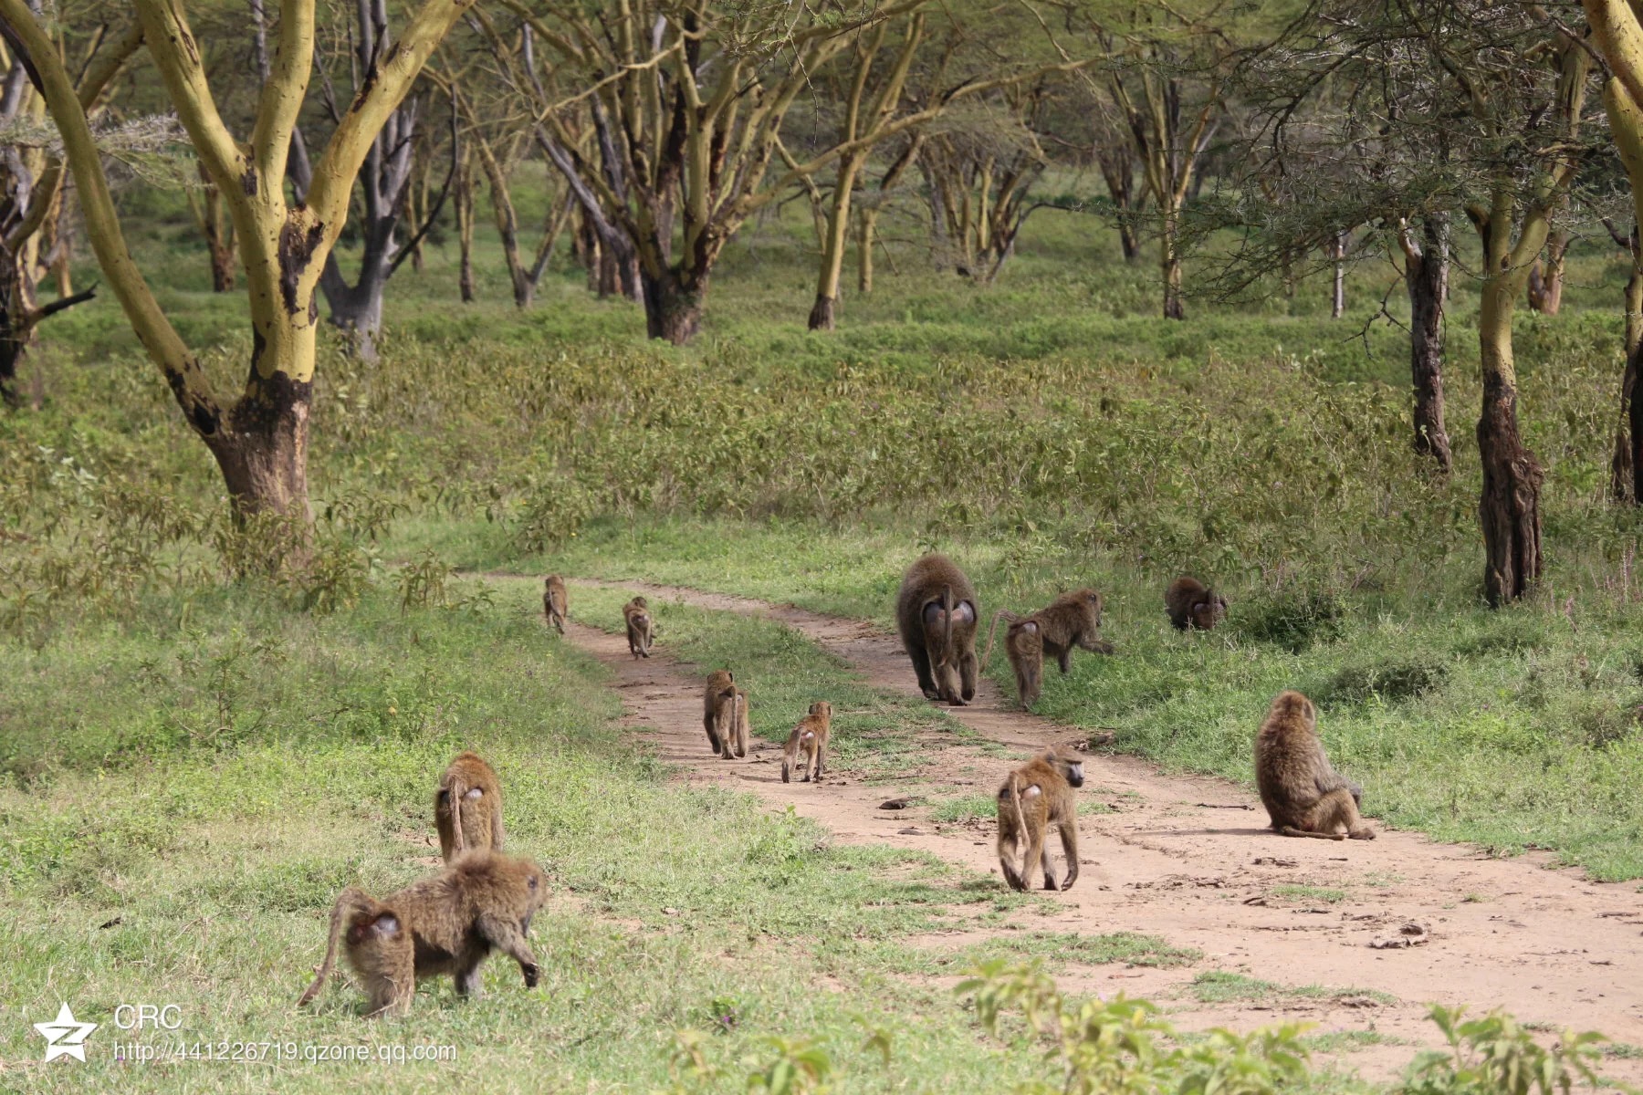
M 319 271 L 348 217 L 348 195 L 373 140 L 472 2 L 426 0 L 396 48 L 370 59 L 370 79 L 340 112 L 314 163 L 306 200 L 291 202 L 286 158 L 314 67 L 315 0 L 279 5 L 278 49 L 248 140 L 235 138 L 217 110 L 202 46 L 179 0 L 133 0 L 166 97 L 222 192 L 240 241 L 251 360 L 245 387 L 225 404 L 131 259 L 85 107 L 51 38 L 25 0 L 0 0 L 0 28 L 28 59 L 30 79 L 62 136 L 97 263 L 189 428 L 217 458 L 240 515 L 268 512 L 311 520 L 307 432 Z

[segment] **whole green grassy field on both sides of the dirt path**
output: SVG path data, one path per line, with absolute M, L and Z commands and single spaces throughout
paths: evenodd
M 243 304 L 207 291 L 186 212 L 143 194 L 127 208 L 161 304 L 237 383 Z M 841 1092 L 1047 1075 L 1019 1031 L 984 1033 L 933 980 L 958 959 L 1066 954 L 1030 931 L 1033 901 L 669 783 L 616 729 L 598 667 L 545 640 L 534 586 L 452 568 L 642 575 L 881 624 L 928 548 L 964 563 L 989 612 L 1096 584 L 1119 653 L 1052 675 L 1042 712 L 1247 781 L 1267 701 L 1298 686 L 1374 816 L 1643 877 L 1643 519 L 1604 501 L 1623 277 L 1607 246 L 1576 251 L 1564 315 L 1520 317 L 1551 570 L 1533 601 L 1490 612 L 1467 279 L 1449 322 L 1459 471 L 1436 481 L 1408 451 L 1401 333 L 1359 337 L 1385 264 L 1354 273 L 1341 322 L 1308 284 L 1255 309 L 1193 300 L 1170 325 L 1150 268 L 1117 259 L 1091 218 L 1040 213 L 979 287 L 932 273 L 900 217 L 895 269 L 846 294 L 831 337 L 803 332 L 807 225 L 748 230 L 683 350 L 647 345 L 637 309 L 591 299 L 562 259 L 518 314 L 485 246 L 483 300 L 463 307 L 453 248 L 432 246 L 389 292 L 381 366 L 327 335 L 319 552 L 281 581 L 225 576 L 245 534 L 113 302 L 53 318 L 25 374 L 41 409 L 0 417 L 0 1087 L 424 1090 L 485 1074 L 496 1090 L 729 1090 L 805 1038 Z M 1162 589 L 1181 570 L 1229 594 L 1222 630 L 1168 630 Z M 774 624 L 664 609 L 662 625 L 692 660 L 757 667 L 761 731 L 790 726 L 825 680 L 868 712 L 851 763 L 894 765 L 943 721 Z M 509 834 L 554 875 L 534 929 L 547 992 L 496 960 L 486 998 L 424 990 L 399 1024 L 361 1019 L 345 985 L 297 1013 L 335 891 L 429 868 L 427 798 L 462 747 L 503 772 Z M 909 942 L 999 919 L 1029 931 L 958 957 Z M 458 1061 L 102 1054 L 71 1082 L 35 1064 L 28 1028 L 59 1000 L 177 1003 L 191 1041 L 457 1046 Z

